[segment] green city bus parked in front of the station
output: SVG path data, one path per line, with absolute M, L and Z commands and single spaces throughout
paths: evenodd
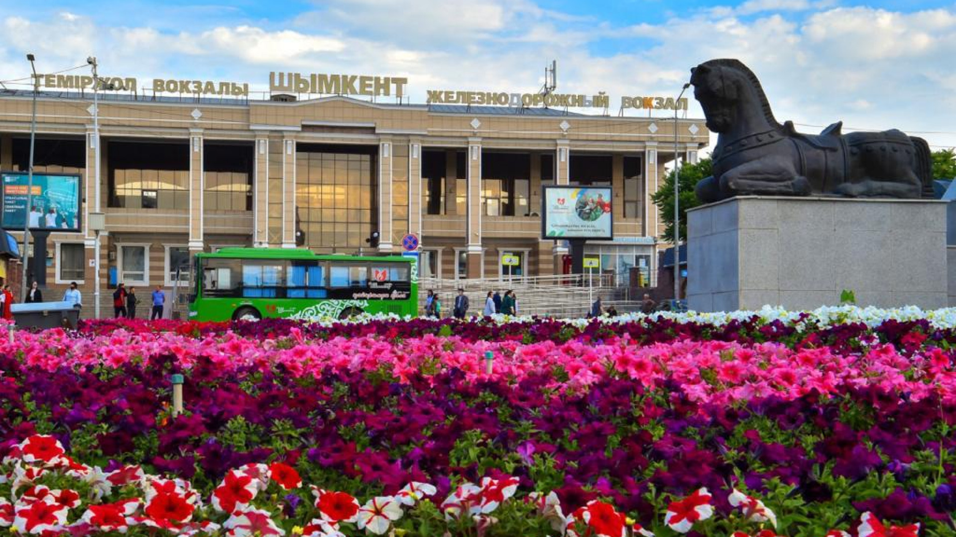
M 196 254 L 192 274 L 189 318 L 196 321 L 418 314 L 413 257 L 227 247 Z

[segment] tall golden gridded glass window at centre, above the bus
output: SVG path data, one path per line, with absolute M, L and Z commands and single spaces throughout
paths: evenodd
M 378 211 L 372 208 L 377 146 L 372 153 L 339 152 L 367 151 L 354 146 L 337 152 L 321 152 L 319 145 L 298 148 L 295 203 L 301 243 L 328 252 L 365 247 L 378 226 Z

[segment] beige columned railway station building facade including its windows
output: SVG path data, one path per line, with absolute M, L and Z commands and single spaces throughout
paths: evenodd
M 0 92 L 4 171 L 29 165 L 32 97 Z M 173 287 L 175 268 L 198 251 L 369 254 L 373 231 L 375 253 L 399 253 L 415 234 L 424 277 L 564 273 L 566 245 L 540 239 L 548 184 L 613 187 L 615 238 L 586 253 L 626 285 L 631 267 L 656 271 L 666 242 L 650 201 L 664 164 L 696 161 L 708 138 L 702 119 L 553 108 L 100 94 L 97 139 L 91 102 L 89 92 L 40 92 L 34 149 L 34 173 L 83 177 L 81 232 L 54 232 L 47 258 L 32 263 L 45 264 L 54 296 L 78 282 L 84 305 L 97 243 L 104 306 L 119 282 Z M 105 215 L 98 240 L 90 213 Z M 503 266 L 504 255 L 518 266 Z

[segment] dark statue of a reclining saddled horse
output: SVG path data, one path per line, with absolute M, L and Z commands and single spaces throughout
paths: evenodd
M 712 203 L 737 195 L 932 197 L 929 146 L 898 130 L 819 135 L 780 124 L 760 81 L 736 59 L 712 59 L 691 69 L 694 97 L 707 127 L 718 133 L 713 176 L 697 184 Z

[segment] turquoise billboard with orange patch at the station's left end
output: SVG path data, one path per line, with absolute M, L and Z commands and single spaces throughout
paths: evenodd
M 0 227 L 79 231 L 80 177 L 76 174 L 33 174 L 31 206 L 27 207 L 29 177 L 24 172 L 3 172 L 3 212 Z

